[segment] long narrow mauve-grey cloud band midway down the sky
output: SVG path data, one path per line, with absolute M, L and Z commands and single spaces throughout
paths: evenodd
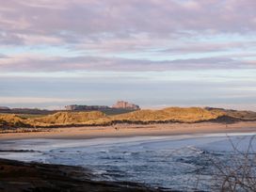
M 38 57 L 15 56 L 2 59 L 0 69 L 6 72 L 70 72 L 70 71 L 113 71 L 149 72 L 170 70 L 210 69 L 254 69 L 254 62 L 235 60 L 228 57 L 188 58 L 152 61 L 148 59 L 127 59 L 120 57 Z

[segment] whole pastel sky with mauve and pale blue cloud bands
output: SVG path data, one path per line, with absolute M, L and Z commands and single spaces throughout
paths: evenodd
M 0 105 L 256 110 L 255 0 L 0 0 Z

